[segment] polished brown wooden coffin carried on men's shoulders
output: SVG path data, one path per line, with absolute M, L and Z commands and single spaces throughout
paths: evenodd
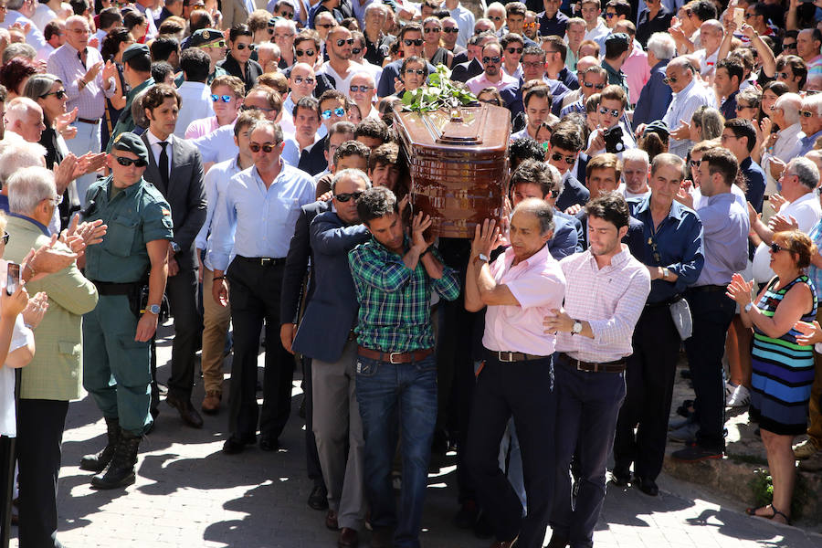
M 511 112 L 489 104 L 420 114 L 395 110 L 411 176 L 411 205 L 440 237 L 474 237 L 499 220 L 508 192 Z

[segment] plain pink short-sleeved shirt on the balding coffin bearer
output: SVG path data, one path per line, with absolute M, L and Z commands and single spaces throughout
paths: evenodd
M 482 345 L 495 352 L 521 352 L 550 356 L 556 337 L 546 334 L 543 317 L 563 303 L 565 277 L 548 246 L 512 267 L 508 248 L 491 265 L 491 275 L 505 284 L 520 303 L 489 306 L 485 312 Z

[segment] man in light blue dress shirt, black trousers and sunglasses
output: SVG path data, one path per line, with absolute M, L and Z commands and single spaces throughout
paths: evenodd
M 257 353 L 266 325 L 263 406 L 259 447 L 278 448 L 291 408 L 294 361 L 279 341 L 279 300 L 285 257 L 300 216 L 314 201 L 311 176 L 283 163 L 279 124 L 261 120 L 251 127 L 254 165 L 234 175 L 220 195 L 208 258 L 214 266 L 212 297 L 231 299 L 234 362 L 231 366 L 228 431 L 223 451 L 238 453 L 257 440 Z M 233 257 L 233 258 L 232 258 Z M 230 263 L 230 266 L 229 266 Z M 229 293 L 230 289 L 230 293 Z

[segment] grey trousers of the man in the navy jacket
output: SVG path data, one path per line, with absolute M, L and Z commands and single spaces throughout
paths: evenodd
M 349 341 L 336 363 L 311 361 L 314 437 L 328 505 L 340 527 L 359 531 L 365 517 L 363 420 L 357 406 L 357 342 Z M 348 455 L 346 458 L 346 446 Z

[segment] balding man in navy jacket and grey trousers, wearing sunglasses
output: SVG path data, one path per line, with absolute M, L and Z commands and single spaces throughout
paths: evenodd
M 335 211 L 311 222 L 315 291 L 292 345 L 311 357 L 312 429 L 328 489 L 326 524 L 341 529 L 340 546 L 356 545 L 365 519 L 365 442 L 354 391 L 359 304 L 348 252 L 371 236 L 356 206 L 370 187 L 363 172 L 342 170 L 332 180 Z

